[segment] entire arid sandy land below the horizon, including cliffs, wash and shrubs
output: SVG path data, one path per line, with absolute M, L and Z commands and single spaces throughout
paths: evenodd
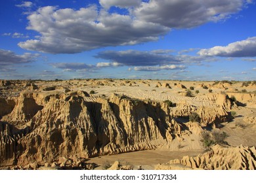
M 0 80 L 1 169 L 256 169 L 256 82 Z

